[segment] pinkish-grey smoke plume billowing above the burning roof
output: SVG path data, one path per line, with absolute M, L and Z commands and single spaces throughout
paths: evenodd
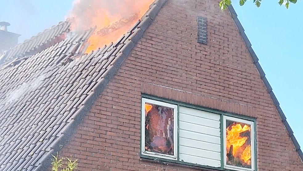
M 72 29 L 75 32 L 87 30 L 94 26 L 97 26 L 96 30 L 100 30 L 121 18 L 128 18 L 133 14 L 140 13 L 142 7 L 146 6 L 146 2 L 150 2 L 149 6 L 152 1 L 75 0 L 68 18 L 73 18 Z

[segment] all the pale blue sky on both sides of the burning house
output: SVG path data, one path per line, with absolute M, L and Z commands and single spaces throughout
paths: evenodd
M 233 6 L 252 43 L 294 134 L 303 149 L 303 0 L 289 7 L 262 1 L 260 8 L 247 1 Z M 21 34 L 19 42 L 64 21 L 73 0 L 0 0 L 0 21 L 8 31 Z

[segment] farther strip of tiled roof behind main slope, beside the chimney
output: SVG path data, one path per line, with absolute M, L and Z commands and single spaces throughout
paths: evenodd
M 55 45 L 64 39 L 64 34 L 69 31 L 69 27 L 70 22 L 60 22 L 58 25 L 46 29 L 36 36 L 31 37 L 31 39 L 25 40 L 23 43 L 12 47 L 10 50 L 6 51 L 3 56 L 0 55 L 0 65 L 25 55 L 36 54 Z

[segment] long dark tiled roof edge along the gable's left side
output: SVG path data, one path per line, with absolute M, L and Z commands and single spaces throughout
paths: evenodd
M 93 92 L 88 95 L 87 98 L 83 101 L 82 106 L 75 113 L 73 120 L 68 123 L 68 126 L 66 126 L 65 129 L 61 131 L 61 135 L 52 143 L 51 150 L 39 160 L 36 165 L 37 167 L 35 168 L 35 171 L 44 171 L 48 169 L 51 161 L 51 155 L 59 151 L 61 148 L 60 146 L 62 144 L 65 144 L 74 133 L 76 127 L 92 108 L 93 103 L 96 101 L 101 92 L 104 91 L 110 79 L 113 78 L 123 61 L 135 47 L 137 41 L 142 37 L 144 31 L 151 24 L 151 21 L 155 19 L 156 15 L 162 6 L 166 3 L 166 1 L 167 0 L 156 0 L 150 5 L 149 10 L 145 13 L 144 17 L 142 17 L 141 23 L 139 25 L 135 25 L 134 32 L 131 36 L 129 36 L 128 42 L 120 49 L 120 53 L 113 60 L 111 66 L 109 66 L 109 68 L 105 71 L 99 83 L 97 83 L 92 89 Z

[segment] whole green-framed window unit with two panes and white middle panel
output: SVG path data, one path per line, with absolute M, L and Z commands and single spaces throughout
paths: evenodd
M 218 170 L 256 171 L 254 119 L 142 98 L 141 157 Z

